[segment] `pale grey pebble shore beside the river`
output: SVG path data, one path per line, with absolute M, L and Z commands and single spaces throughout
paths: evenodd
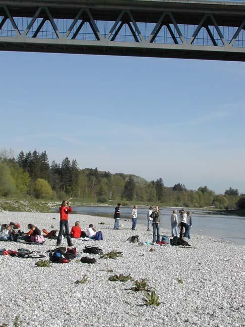
M 193 236 L 192 249 L 138 246 L 125 241 L 139 235 L 141 242 L 151 242 L 152 231 L 146 231 L 142 224 L 132 232 L 131 222 L 127 221 L 121 221 L 121 230 L 113 230 L 113 219 L 70 215 L 70 226 L 76 220 L 82 227 L 93 223 L 104 237 L 103 241 L 76 241 L 78 253 L 85 245 L 95 245 L 104 253 L 121 251 L 123 258 L 89 255 L 96 258 L 96 264 L 74 259 L 68 264 L 52 263 L 41 268 L 35 266 L 38 259 L 0 256 L 0 324 L 13 326 L 18 316 L 23 321 L 19 326 L 245 326 L 244 246 L 202 236 Z M 51 225 L 58 228 L 59 215 L 0 213 L 0 223 L 10 221 L 19 222 L 25 231 L 28 223 L 50 230 Z M 101 221 L 105 224 L 98 224 Z M 162 226 L 161 233 L 169 235 L 168 228 Z M 24 247 L 46 254 L 55 244 L 54 240 L 47 240 L 43 246 L 1 242 L 0 248 Z M 149 251 L 151 248 L 155 251 Z M 160 306 L 143 306 L 144 294 L 128 290 L 133 282 L 108 281 L 109 276 L 120 273 L 145 278 L 159 295 Z M 85 274 L 88 281 L 75 284 Z

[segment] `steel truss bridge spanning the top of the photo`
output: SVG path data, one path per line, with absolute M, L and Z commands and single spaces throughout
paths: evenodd
M 0 0 L 0 50 L 245 61 L 245 1 Z

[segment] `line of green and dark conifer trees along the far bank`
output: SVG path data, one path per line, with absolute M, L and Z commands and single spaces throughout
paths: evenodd
M 46 151 L 21 151 L 15 158 L 11 151 L 0 153 L 0 196 L 31 196 L 61 200 L 106 203 L 158 203 L 162 206 L 215 207 L 218 209 L 245 208 L 245 195 L 229 188 L 224 194 L 215 194 L 207 186 L 197 191 L 187 190 L 185 184 L 166 187 L 163 179 L 147 181 L 136 175 L 112 174 L 97 168 L 79 169 L 76 159 L 64 158 L 61 163 L 48 161 Z

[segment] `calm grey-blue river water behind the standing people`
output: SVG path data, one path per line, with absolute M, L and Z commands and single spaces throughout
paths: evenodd
M 131 210 L 129 207 L 121 207 L 121 219 L 130 219 Z M 170 229 L 170 215 L 173 209 L 161 209 L 161 227 Z M 77 214 L 111 217 L 114 215 L 114 208 L 108 206 L 83 206 L 73 207 L 73 212 Z M 147 208 L 138 208 L 138 223 L 146 222 Z M 113 221 L 111 225 L 113 226 Z M 206 211 L 193 211 L 191 233 L 205 236 L 212 236 L 219 239 L 245 245 L 245 217 L 213 215 Z

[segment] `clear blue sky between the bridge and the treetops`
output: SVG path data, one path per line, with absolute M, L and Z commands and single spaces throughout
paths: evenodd
M 245 193 L 245 64 L 0 52 L 1 149 Z

